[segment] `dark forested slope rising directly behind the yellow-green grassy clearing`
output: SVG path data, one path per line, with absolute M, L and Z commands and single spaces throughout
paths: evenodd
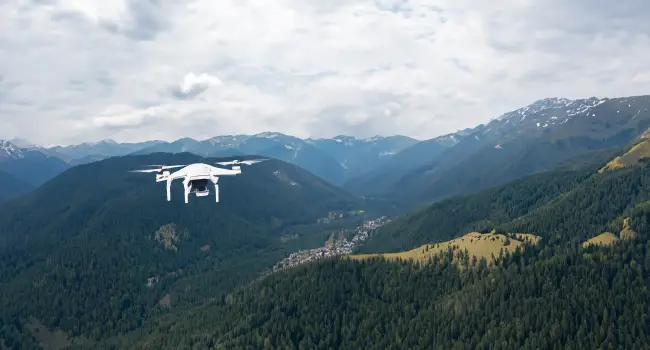
M 569 191 L 598 168 L 591 165 L 580 171 L 532 175 L 474 195 L 440 201 L 402 215 L 380 228 L 361 252 L 404 251 L 432 241 L 452 239 L 466 232 L 489 232 Z

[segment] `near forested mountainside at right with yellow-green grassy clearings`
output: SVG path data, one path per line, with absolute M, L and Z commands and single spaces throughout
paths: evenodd
M 421 263 L 306 264 L 172 311 L 116 347 L 648 348 L 650 162 L 598 171 L 610 159 L 597 158 L 395 218 L 363 247 L 424 254 L 456 238 Z M 522 233 L 540 240 L 516 242 Z M 459 248 L 499 236 L 491 262 Z

